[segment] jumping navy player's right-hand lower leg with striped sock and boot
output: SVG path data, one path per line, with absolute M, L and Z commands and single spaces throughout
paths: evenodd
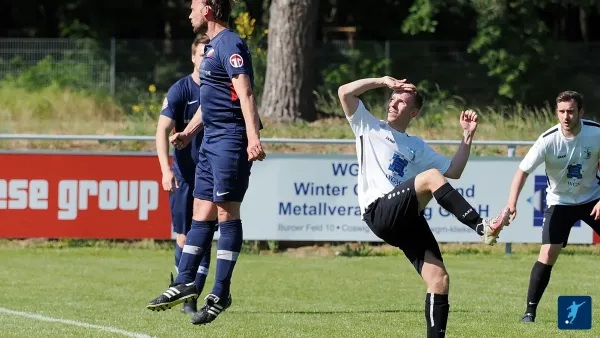
M 205 298 L 205 305 L 192 316 L 192 324 L 208 324 L 231 306 L 231 277 L 243 241 L 240 208 L 241 202 L 217 203 L 221 236 L 217 243 L 215 284 L 212 292 Z

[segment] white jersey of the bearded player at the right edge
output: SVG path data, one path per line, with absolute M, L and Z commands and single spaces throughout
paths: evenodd
M 600 198 L 600 124 L 582 120 L 579 134 L 566 138 L 560 124 L 535 142 L 519 168 L 531 174 L 546 166 L 546 205 L 582 204 Z

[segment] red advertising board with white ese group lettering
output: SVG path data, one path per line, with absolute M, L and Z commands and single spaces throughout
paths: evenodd
M 155 156 L 0 154 L 0 237 L 170 239 Z

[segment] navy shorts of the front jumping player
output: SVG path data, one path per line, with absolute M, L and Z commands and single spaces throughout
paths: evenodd
M 245 134 L 205 134 L 196 166 L 194 197 L 215 203 L 242 202 L 252 168 L 247 148 Z

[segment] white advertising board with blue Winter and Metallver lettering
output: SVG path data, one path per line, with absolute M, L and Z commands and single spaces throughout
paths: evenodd
M 518 158 L 471 157 L 450 183 L 479 211 L 496 216 L 505 206 Z M 252 168 L 242 203 L 246 240 L 380 241 L 361 220 L 356 196 L 358 165 L 353 155 L 270 154 Z M 541 243 L 543 165 L 529 176 L 517 206 L 517 219 L 498 242 Z M 433 199 L 425 216 L 439 242 L 480 242 L 479 236 Z M 592 243 L 584 223 L 573 227 L 569 243 Z

